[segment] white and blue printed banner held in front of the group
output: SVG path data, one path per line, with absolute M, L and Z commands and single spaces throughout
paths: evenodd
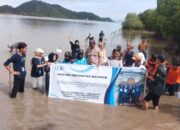
M 110 105 L 137 102 L 144 91 L 144 70 L 53 64 L 49 97 Z

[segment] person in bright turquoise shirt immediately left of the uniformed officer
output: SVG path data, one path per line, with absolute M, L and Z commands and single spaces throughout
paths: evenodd
M 87 65 L 87 60 L 84 57 L 83 49 L 80 49 L 79 52 L 78 52 L 78 56 L 77 56 L 77 59 L 76 59 L 76 64 Z

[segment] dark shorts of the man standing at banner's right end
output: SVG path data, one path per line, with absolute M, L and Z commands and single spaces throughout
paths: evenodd
M 147 102 L 149 102 L 149 101 L 152 100 L 154 107 L 156 107 L 156 106 L 159 105 L 159 99 L 160 99 L 160 96 L 154 95 L 154 94 L 152 94 L 152 93 L 149 93 L 149 94 L 144 98 L 144 100 L 147 101 Z

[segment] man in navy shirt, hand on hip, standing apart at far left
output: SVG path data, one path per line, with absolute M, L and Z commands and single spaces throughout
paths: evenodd
M 14 75 L 13 89 L 9 93 L 11 98 L 16 98 L 17 92 L 24 92 L 24 83 L 26 77 L 25 57 L 27 52 L 27 44 L 19 42 L 17 49 L 19 50 L 11 58 L 4 63 L 5 68 Z M 13 63 L 13 69 L 9 66 Z

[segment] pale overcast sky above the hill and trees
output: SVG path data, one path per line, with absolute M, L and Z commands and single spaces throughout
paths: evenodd
M 0 5 L 17 7 L 29 0 L 0 0 Z M 140 13 L 146 9 L 156 8 L 156 0 L 42 0 L 59 4 L 73 11 L 86 11 L 113 20 L 123 20 L 127 13 Z

